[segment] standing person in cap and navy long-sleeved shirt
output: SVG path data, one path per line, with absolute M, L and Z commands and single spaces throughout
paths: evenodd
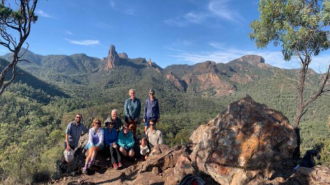
M 152 118 L 155 120 L 154 124 L 156 124 L 156 122 L 160 119 L 160 114 L 158 99 L 155 98 L 155 91 L 150 89 L 149 98 L 146 100 L 143 112 L 144 132 L 147 131 L 149 127 L 149 120 Z

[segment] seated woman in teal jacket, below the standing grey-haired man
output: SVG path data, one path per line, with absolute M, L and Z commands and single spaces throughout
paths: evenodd
M 129 157 L 134 157 L 135 153 L 133 150 L 133 146 L 134 146 L 134 138 L 133 138 L 133 134 L 131 132 L 128 131 L 128 124 L 124 123 L 123 125 L 123 129 L 119 132 L 118 134 L 118 145 L 119 147 L 119 151 L 123 156 L 128 156 Z

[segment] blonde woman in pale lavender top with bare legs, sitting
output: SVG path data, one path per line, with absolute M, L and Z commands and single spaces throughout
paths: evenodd
M 88 156 L 86 157 L 85 166 L 83 167 L 82 172 L 86 173 L 87 168 L 91 166 L 94 162 L 97 151 L 103 149 L 103 138 L 104 131 L 101 128 L 101 120 L 94 119 L 93 120 L 93 127 L 89 129 L 89 137 L 87 142 L 87 149 L 88 149 Z

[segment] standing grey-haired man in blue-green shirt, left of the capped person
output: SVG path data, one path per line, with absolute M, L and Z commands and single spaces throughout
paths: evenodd
M 134 89 L 130 89 L 128 94 L 129 98 L 125 100 L 124 104 L 125 122 L 128 123 L 129 130 L 133 130 L 133 135 L 136 139 L 137 124 L 141 113 L 141 102 L 135 97 Z

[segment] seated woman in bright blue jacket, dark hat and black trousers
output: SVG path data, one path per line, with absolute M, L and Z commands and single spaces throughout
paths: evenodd
M 107 128 L 104 130 L 104 143 L 106 150 L 109 150 L 110 152 L 110 159 L 111 164 L 114 169 L 118 169 L 118 167 L 121 167 L 121 158 L 120 154 L 118 152 L 118 145 L 117 145 L 117 130 L 114 128 L 115 123 L 113 121 L 107 122 Z M 116 158 L 118 165 L 116 163 L 115 157 L 114 157 L 114 151 L 116 152 Z

